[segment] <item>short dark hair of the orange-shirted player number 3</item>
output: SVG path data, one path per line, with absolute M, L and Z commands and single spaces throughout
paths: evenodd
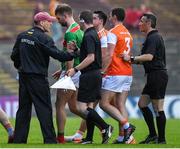
M 118 21 L 123 22 L 125 18 L 125 10 L 123 8 L 114 8 L 111 11 L 112 17 L 115 15 Z

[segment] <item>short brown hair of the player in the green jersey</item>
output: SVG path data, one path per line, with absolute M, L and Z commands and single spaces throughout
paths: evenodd
M 63 15 L 64 13 L 67 13 L 69 15 L 73 14 L 71 6 L 65 3 L 58 5 L 55 10 L 55 15 L 57 14 Z

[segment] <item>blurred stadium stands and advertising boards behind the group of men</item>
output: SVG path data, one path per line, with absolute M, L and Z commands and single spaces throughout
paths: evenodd
M 10 60 L 10 53 L 17 34 L 32 26 L 35 8 L 39 2 L 43 5 L 43 10 L 49 11 L 50 0 L 0 0 L 0 106 L 10 117 L 15 117 L 18 106 L 17 71 Z M 61 2 L 73 7 L 75 18 L 84 9 L 100 9 L 108 13 L 113 7 L 128 9 L 133 6 L 139 9 L 142 4 L 155 13 L 158 18 L 157 28 L 165 40 L 169 73 L 165 111 L 169 118 L 180 118 L 180 0 L 61 0 Z M 110 25 L 107 24 L 107 28 L 109 27 Z M 138 54 L 144 36 L 136 28 L 132 29 L 131 33 L 134 38 L 133 53 Z M 59 67 L 58 61 L 51 60 L 50 85 L 55 82 L 51 74 Z M 130 117 L 137 118 L 140 112 L 136 103 L 145 78 L 142 66 L 133 67 L 134 80 L 127 108 Z M 56 91 L 51 90 L 51 92 L 54 104 Z

